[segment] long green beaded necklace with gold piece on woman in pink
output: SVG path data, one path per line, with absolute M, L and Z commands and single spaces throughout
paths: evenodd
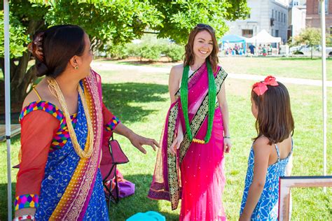
M 209 139 L 211 138 L 212 134 L 212 124 L 213 124 L 214 109 L 216 102 L 216 83 L 214 82 L 212 67 L 209 60 L 207 60 L 207 76 L 209 78 L 209 91 L 208 91 L 209 109 L 207 115 L 207 134 L 205 135 L 204 141 L 197 138 L 193 138 L 193 134 L 191 134 L 191 127 L 189 124 L 189 117 L 188 117 L 188 72 L 189 72 L 189 65 L 184 67 L 184 73 L 182 74 L 181 91 L 180 91 L 181 106 L 184 112 L 184 122 L 186 124 L 186 131 L 190 141 L 193 141 L 195 143 L 209 143 Z

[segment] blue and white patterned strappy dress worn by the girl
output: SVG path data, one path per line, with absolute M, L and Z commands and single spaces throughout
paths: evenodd
M 278 207 L 279 207 L 279 177 L 286 176 L 286 166 L 289 162 L 289 157 L 293 152 L 293 141 L 291 141 L 291 152 L 289 155 L 280 159 L 279 148 L 275 144 L 275 150 L 277 151 L 277 162 L 268 166 L 268 172 L 266 173 L 266 180 L 261 197 L 251 215 L 251 220 L 277 220 Z M 247 197 L 249 187 L 254 178 L 254 148 L 251 146 L 247 176 L 244 183 L 244 192 L 241 203 L 240 215 L 243 212 L 244 206 L 247 203 Z

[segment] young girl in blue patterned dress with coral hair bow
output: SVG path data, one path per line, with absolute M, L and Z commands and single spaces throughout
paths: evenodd
M 251 90 L 257 136 L 251 147 L 240 220 L 277 220 L 279 177 L 293 151 L 294 122 L 286 87 L 268 76 Z

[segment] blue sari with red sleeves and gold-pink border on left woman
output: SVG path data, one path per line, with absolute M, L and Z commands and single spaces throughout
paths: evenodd
M 48 101 L 35 101 L 20 115 L 22 160 L 16 186 L 15 210 L 36 208 L 36 220 L 109 220 L 99 162 L 103 130 L 118 124 L 102 103 L 100 76 L 91 71 L 80 86 L 93 127 L 93 151 L 79 157 L 69 137 L 62 110 Z M 78 112 L 71 124 L 84 150 L 88 150 L 88 126 L 78 96 Z

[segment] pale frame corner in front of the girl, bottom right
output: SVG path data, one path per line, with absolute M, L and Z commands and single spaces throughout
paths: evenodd
M 279 180 L 279 220 L 291 220 L 289 204 L 293 187 L 332 187 L 332 176 L 282 176 Z

